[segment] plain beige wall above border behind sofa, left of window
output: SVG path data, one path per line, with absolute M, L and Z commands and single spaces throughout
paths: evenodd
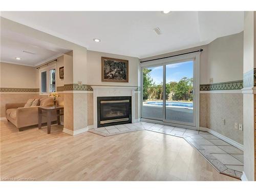
M 34 67 L 1 62 L 1 88 L 38 88 Z

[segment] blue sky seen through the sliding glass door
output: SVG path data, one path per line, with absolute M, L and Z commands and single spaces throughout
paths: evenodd
M 163 66 L 148 68 L 151 69 L 151 78 L 156 84 L 163 82 Z M 166 83 L 178 82 L 183 77 L 193 77 L 193 61 L 179 62 L 166 65 Z

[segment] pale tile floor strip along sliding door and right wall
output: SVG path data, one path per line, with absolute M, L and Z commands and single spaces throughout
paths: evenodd
M 244 164 L 241 161 L 241 159 L 243 159 L 243 151 L 229 143 L 226 143 L 208 132 L 183 129 L 167 125 L 162 125 L 161 129 L 156 129 L 156 127 L 159 127 L 158 125 L 147 122 L 142 122 L 142 125 L 147 131 L 184 138 L 213 167 L 215 167 L 219 173 L 241 179 L 243 174 L 241 170 L 244 168 Z M 223 156 L 225 156 L 225 158 L 223 158 Z M 223 163 L 221 161 L 223 161 Z

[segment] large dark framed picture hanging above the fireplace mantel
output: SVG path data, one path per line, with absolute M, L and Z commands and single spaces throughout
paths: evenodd
M 101 81 L 129 82 L 129 61 L 101 57 Z

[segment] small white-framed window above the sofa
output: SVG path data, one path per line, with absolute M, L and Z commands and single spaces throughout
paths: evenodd
M 56 91 L 56 65 L 41 68 L 40 76 L 40 94 L 47 94 Z

